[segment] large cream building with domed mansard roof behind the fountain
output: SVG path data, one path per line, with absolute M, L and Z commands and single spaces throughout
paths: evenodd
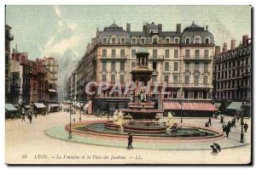
M 212 33 L 207 26 L 204 28 L 194 22 L 183 31 L 181 24 L 177 24 L 176 31 L 162 31 L 162 25 L 153 22 L 144 24 L 143 31 L 131 31 L 131 24 L 126 25 L 125 31 L 115 23 L 103 31 L 96 31 L 96 37 L 92 38 L 79 62 L 86 63 L 84 75 L 75 76 L 75 80 L 84 81 L 84 85 L 91 81 L 111 84 L 106 92 L 84 96 L 84 99 L 92 101 L 93 111 L 107 110 L 112 113 L 126 108 L 130 101 L 129 94 L 110 95 L 109 92 L 115 82 L 121 82 L 123 88 L 125 82 L 131 81 L 130 72 L 137 61 L 136 52 L 142 46 L 147 48 L 148 65 L 154 70 L 152 82 L 160 82 L 159 93 L 152 96 L 156 109 L 178 113 L 178 102 L 183 102 L 183 115 L 194 115 L 191 112 L 196 110 L 191 107 L 197 107 L 201 115 L 215 110 L 210 104 L 214 55 Z M 74 72 L 77 73 L 77 70 Z M 166 92 L 170 94 L 162 96 L 160 91 L 164 82 L 167 83 Z M 71 93 L 74 92 L 71 89 Z

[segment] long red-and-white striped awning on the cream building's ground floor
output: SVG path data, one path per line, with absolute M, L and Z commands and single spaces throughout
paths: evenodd
M 164 110 L 180 110 L 179 103 L 163 103 Z M 183 110 L 196 110 L 196 111 L 218 111 L 213 104 L 202 103 L 183 103 Z

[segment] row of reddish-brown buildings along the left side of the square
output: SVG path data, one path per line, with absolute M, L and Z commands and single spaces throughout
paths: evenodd
M 33 109 L 38 113 L 58 109 L 58 64 L 52 57 L 30 60 L 27 52 L 11 52 L 14 39 L 11 27 L 5 26 L 5 103 L 9 111 Z

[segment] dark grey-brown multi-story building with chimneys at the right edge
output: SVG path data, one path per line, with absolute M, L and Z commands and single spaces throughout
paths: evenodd
M 251 102 L 251 54 L 252 45 L 248 36 L 242 37 L 242 43 L 236 47 L 235 40 L 231 40 L 231 48 L 227 49 L 224 42 L 222 52 L 216 47 L 214 57 L 214 99 Z

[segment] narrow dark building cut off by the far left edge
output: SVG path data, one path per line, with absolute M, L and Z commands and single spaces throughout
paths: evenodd
M 14 36 L 10 34 L 11 27 L 5 25 L 5 101 L 10 102 L 12 95 L 10 94 L 10 42 L 14 40 Z

